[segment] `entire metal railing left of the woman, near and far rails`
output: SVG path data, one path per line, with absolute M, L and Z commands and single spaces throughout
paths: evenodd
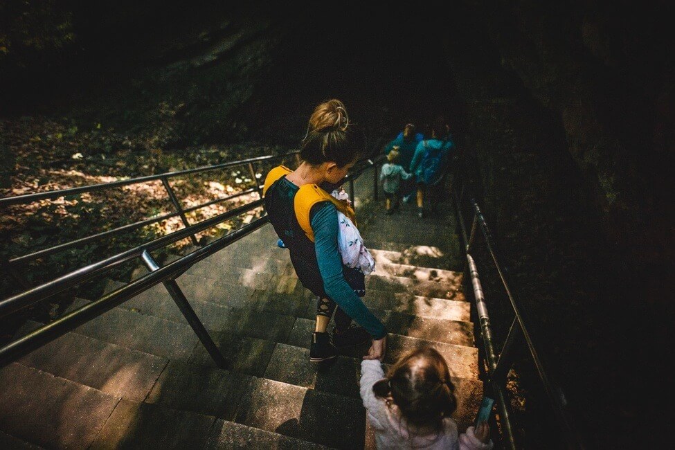
M 158 285 L 161 282 L 169 291 L 173 300 L 175 301 L 175 303 L 177 303 L 179 309 L 181 309 L 183 316 L 186 317 L 186 320 L 192 327 L 192 330 L 195 331 L 195 334 L 197 334 L 201 343 L 204 344 L 204 347 L 206 348 L 210 356 L 213 358 L 217 366 L 227 368 L 229 366 L 228 361 L 226 361 L 222 356 L 222 354 L 219 352 L 215 343 L 213 343 L 213 340 L 208 335 L 206 328 L 197 317 L 197 314 L 195 314 L 192 307 L 190 307 L 188 300 L 183 295 L 183 292 L 175 282 L 175 278 L 177 278 L 181 273 L 189 269 L 193 264 L 196 264 L 197 262 L 204 260 L 204 258 L 208 258 L 208 256 L 213 255 L 213 253 L 221 249 L 224 249 L 226 246 L 232 244 L 233 242 L 236 242 L 237 240 L 242 239 L 242 237 L 248 235 L 249 233 L 252 233 L 256 229 L 263 226 L 264 224 L 267 224 L 268 222 L 267 215 L 264 215 L 259 219 L 255 219 L 253 222 L 246 224 L 241 228 L 238 228 L 237 230 L 228 233 L 224 237 L 220 237 L 219 239 L 216 239 L 213 242 L 210 242 L 209 244 L 202 246 L 201 248 L 197 248 L 195 251 L 192 251 L 177 260 L 174 260 L 173 262 L 167 264 L 164 267 L 160 267 L 159 264 L 156 263 L 156 261 L 152 258 L 150 252 L 156 251 L 157 249 L 162 249 L 165 246 L 168 246 L 169 244 L 172 244 L 179 240 L 183 240 L 186 237 L 194 236 L 195 233 L 199 233 L 200 231 L 204 231 L 208 228 L 216 226 L 217 224 L 220 224 L 237 215 L 245 213 L 248 210 L 252 210 L 254 208 L 262 206 L 263 205 L 262 186 L 260 186 L 260 183 L 255 181 L 257 179 L 255 177 L 255 170 L 253 168 L 253 163 L 283 159 L 288 156 L 295 156 L 296 154 L 297 152 L 290 152 L 287 154 L 276 156 L 261 156 L 258 158 L 245 159 L 242 161 L 233 161 L 231 163 L 211 165 L 202 168 L 183 170 L 180 172 L 168 172 L 165 174 L 152 175 L 150 177 L 139 177 L 136 179 L 114 181 L 112 183 L 103 183 L 93 186 L 82 186 L 78 188 L 55 190 L 51 192 L 40 192 L 37 194 L 20 195 L 16 197 L 8 197 L 0 199 L 0 206 L 10 204 L 26 204 L 41 199 L 55 199 L 58 197 L 62 197 L 64 195 L 75 195 L 83 192 L 107 190 L 111 188 L 116 188 L 118 186 L 125 186 L 133 183 L 144 183 L 146 181 L 161 180 L 163 181 L 163 186 L 168 192 L 168 196 L 172 199 L 172 203 L 177 208 L 177 212 L 174 213 L 173 215 L 181 215 L 181 217 L 183 218 L 183 223 L 186 224 L 186 227 L 182 228 L 179 231 L 175 231 L 174 233 L 164 235 L 150 242 L 145 242 L 144 244 L 136 246 L 133 249 L 129 249 L 121 253 L 116 253 L 115 255 L 110 255 L 103 260 L 94 262 L 93 264 L 85 265 L 74 271 L 70 271 L 69 273 L 66 273 L 63 276 L 60 276 L 59 278 L 55 278 L 48 282 L 44 282 L 30 289 L 26 289 L 19 294 L 1 300 L 0 317 L 9 316 L 10 314 L 15 314 L 16 312 L 19 312 L 19 310 L 21 309 L 29 307 L 30 305 L 42 302 L 47 298 L 54 296 L 55 294 L 58 294 L 62 291 L 66 291 L 71 287 L 80 285 L 82 284 L 82 282 L 102 276 L 103 274 L 111 271 L 112 269 L 118 267 L 118 265 L 123 264 L 124 262 L 135 259 L 141 259 L 143 263 L 147 266 L 147 268 L 150 269 L 150 273 L 147 273 L 145 276 L 133 280 L 132 282 L 129 282 L 127 285 L 120 287 L 115 291 L 110 292 L 109 294 L 105 294 L 98 300 L 94 300 L 91 303 L 87 303 L 86 305 L 78 309 L 75 309 L 72 312 L 69 312 L 69 314 L 57 318 L 53 322 L 43 325 L 42 327 L 37 328 L 37 330 L 33 330 L 32 332 L 29 332 L 25 336 L 21 336 L 18 339 L 15 339 L 14 341 L 7 343 L 6 345 L 3 345 L 3 347 L 0 348 L 0 366 L 15 361 L 16 359 L 22 357 L 24 354 L 27 354 L 28 352 L 34 350 L 35 348 L 38 348 L 41 345 L 53 341 L 54 339 L 56 339 L 59 336 L 62 336 L 66 332 L 73 330 L 75 327 L 82 325 L 82 323 L 85 323 L 87 321 L 90 321 L 92 318 L 100 316 L 100 314 L 103 314 L 104 312 L 107 312 L 109 309 L 112 309 L 120 305 L 121 303 L 125 302 L 125 300 L 128 300 L 129 298 L 132 298 L 140 294 L 141 292 L 150 289 L 154 285 Z M 187 210 L 181 208 L 179 201 L 174 195 L 174 192 L 172 192 L 172 188 L 168 183 L 168 180 L 171 177 L 177 177 L 185 174 L 194 174 L 197 172 L 206 172 L 208 170 L 227 168 L 235 165 L 249 165 L 249 169 L 251 170 L 251 174 L 253 175 L 252 179 L 255 182 L 255 186 L 252 186 L 249 189 L 245 189 L 242 192 L 237 192 L 237 194 L 235 195 L 224 197 L 222 199 L 215 199 L 205 204 L 192 207 L 190 208 L 190 210 L 201 208 L 213 204 L 217 201 L 226 201 L 227 199 L 232 199 L 234 197 L 244 195 L 244 193 L 246 192 L 258 192 L 260 198 L 251 201 L 249 204 L 245 204 L 238 208 L 234 208 L 233 210 L 229 210 L 226 213 L 222 213 L 215 217 L 211 217 L 210 219 L 206 219 L 197 224 L 191 225 L 188 224 L 184 214 Z M 350 170 L 350 174 L 348 174 L 348 176 L 345 177 L 344 182 L 349 183 L 350 185 L 350 196 L 352 197 L 352 201 L 354 199 L 354 180 L 357 179 L 357 177 L 359 177 L 361 174 L 363 174 L 363 172 L 375 168 L 377 168 L 377 160 L 376 162 L 373 162 L 370 159 L 361 160 L 357 162 L 356 165 L 354 165 L 354 168 Z M 374 177 L 375 195 L 377 196 L 377 170 L 374 170 L 374 172 L 375 172 Z M 155 218 L 152 220 L 156 222 L 163 218 L 165 217 L 163 216 L 162 218 L 159 219 Z M 41 250 L 39 252 L 29 253 L 27 255 L 23 255 L 17 258 L 12 258 L 6 261 L 5 264 L 10 265 L 11 267 L 11 264 L 16 264 L 17 262 L 24 262 L 26 260 L 39 258 L 40 256 L 56 253 L 57 251 L 64 251 L 64 249 L 69 249 L 72 246 L 79 245 L 84 242 L 89 242 L 89 240 L 109 237 L 113 233 L 121 233 L 123 231 L 128 231 L 129 228 L 141 227 L 148 223 L 150 223 L 149 220 L 144 220 L 136 222 L 134 224 L 129 224 L 127 226 L 116 228 L 115 230 L 110 230 L 105 233 L 98 233 L 96 235 L 83 237 L 78 240 L 68 242 L 66 244 L 60 244 L 57 246 L 50 247 L 48 249 Z

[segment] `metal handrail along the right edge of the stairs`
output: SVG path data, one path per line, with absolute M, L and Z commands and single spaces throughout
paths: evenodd
M 478 202 L 474 198 L 471 198 L 471 207 L 474 213 L 474 218 L 471 225 L 471 234 L 467 237 L 464 217 L 462 216 L 462 197 L 465 188 L 466 186 L 462 185 L 460 189 L 461 193 L 459 194 L 456 188 L 453 189 L 454 206 L 458 223 L 460 225 L 462 240 L 464 242 L 464 253 L 467 263 L 466 267 L 467 271 L 469 271 L 469 276 L 471 277 L 474 298 L 476 300 L 476 310 L 478 312 L 478 321 L 480 323 L 480 335 L 483 339 L 483 346 L 485 348 L 485 359 L 487 360 L 487 382 L 492 386 L 497 397 L 496 406 L 500 413 L 499 422 L 501 432 L 505 440 L 505 445 L 510 449 L 516 448 L 516 442 L 510 423 L 510 411 L 507 406 L 507 401 L 505 400 L 505 386 L 507 373 L 514 363 L 514 346 L 520 339 L 523 339 L 527 345 L 528 351 L 530 352 L 530 357 L 532 357 L 534 366 L 537 368 L 537 374 L 539 375 L 541 384 L 548 394 L 550 404 L 553 411 L 555 412 L 558 423 L 561 426 L 564 435 L 566 436 L 569 446 L 568 448 L 585 449 L 586 444 L 584 443 L 584 439 L 577 431 L 572 415 L 567 411 L 566 406 L 568 406 L 568 404 L 566 397 L 559 384 L 557 384 L 555 381 L 551 372 L 546 370 L 545 364 L 543 361 L 541 361 L 541 353 L 537 350 L 536 345 L 532 341 L 532 336 L 530 335 L 530 332 L 528 332 L 525 318 L 523 318 L 523 315 L 521 314 L 520 308 L 518 306 L 518 302 L 516 301 L 513 291 L 510 289 L 509 283 L 507 282 L 505 270 L 503 269 L 503 266 L 499 264 L 496 257 L 494 242 L 492 234 L 490 233 L 487 226 L 487 221 L 485 220 L 485 217 L 478 206 Z M 476 228 L 480 228 L 481 235 L 483 235 L 483 242 L 492 258 L 492 263 L 496 268 L 502 286 L 505 289 L 515 314 L 510 332 L 503 345 L 501 353 L 498 355 L 494 350 L 494 343 L 492 342 L 489 315 L 487 314 L 487 305 L 485 304 L 483 289 L 480 285 L 478 267 L 476 266 L 476 262 L 471 255 L 471 248 L 475 242 Z

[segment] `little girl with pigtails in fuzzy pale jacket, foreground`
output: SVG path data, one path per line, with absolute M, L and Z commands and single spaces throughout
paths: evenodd
M 361 362 L 361 399 L 380 450 L 492 449 L 485 422 L 458 433 L 450 417 L 454 392 L 447 363 L 433 348 L 409 352 L 388 377 L 379 360 Z

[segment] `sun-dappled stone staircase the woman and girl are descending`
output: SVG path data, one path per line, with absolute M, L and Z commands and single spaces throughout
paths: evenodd
M 447 270 L 458 255 L 453 218 L 376 209 L 359 208 L 377 261 L 363 300 L 390 331 L 385 366 L 420 345 L 438 349 L 463 431 L 482 384 L 462 274 Z M 0 368 L 0 448 L 374 448 L 359 397 L 368 346 L 309 362 L 315 300 L 276 240 L 265 225 L 177 279 L 230 370 L 153 287 Z

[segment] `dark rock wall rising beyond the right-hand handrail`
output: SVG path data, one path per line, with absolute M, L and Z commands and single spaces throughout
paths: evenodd
M 462 1 L 445 36 L 467 116 L 466 175 L 534 336 L 597 442 L 634 440 L 639 411 L 656 407 L 649 386 L 672 317 L 669 8 Z M 503 336 L 507 299 L 486 275 Z

